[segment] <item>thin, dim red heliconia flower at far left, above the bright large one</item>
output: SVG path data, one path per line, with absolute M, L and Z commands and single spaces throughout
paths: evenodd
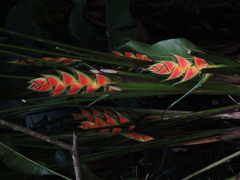
M 54 62 L 54 63 L 66 65 L 66 66 L 75 65 L 82 62 L 79 59 L 71 59 L 66 57 L 56 57 L 56 58 L 43 57 L 41 59 L 45 60 L 46 62 L 49 61 L 49 62 Z M 44 62 L 35 61 L 32 59 L 17 59 L 17 60 L 9 61 L 9 63 L 20 64 L 20 65 L 35 65 L 35 66 L 54 66 Z

